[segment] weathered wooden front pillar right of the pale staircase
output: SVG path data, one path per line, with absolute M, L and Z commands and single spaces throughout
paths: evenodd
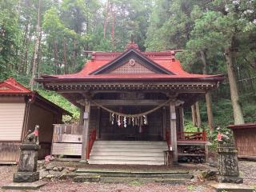
M 177 128 L 176 128 L 176 111 L 175 102 L 170 102 L 170 144 L 174 151 L 174 165 L 178 164 L 178 147 L 177 147 Z

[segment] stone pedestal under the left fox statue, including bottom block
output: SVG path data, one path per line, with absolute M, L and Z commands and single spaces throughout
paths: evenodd
M 21 150 L 18 171 L 14 173 L 14 182 L 36 182 L 39 180 L 38 150 L 40 146 L 35 143 L 23 143 Z

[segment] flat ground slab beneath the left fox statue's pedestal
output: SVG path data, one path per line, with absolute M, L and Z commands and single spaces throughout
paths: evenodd
M 46 182 L 11 182 L 9 185 L 2 186 L 4 190 L 38 190 L 46 185 Z

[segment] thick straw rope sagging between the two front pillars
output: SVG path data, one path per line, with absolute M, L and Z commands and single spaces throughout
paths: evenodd
M 148 111 L 146 111 L 146 112 L 144 112 L 144 113 L 141 113 L 141 114 L 122 114 L 122 113 L 120 113 L 120 112 L 116 112 L 116 111 L 114 111 L 114 110 L 110 110 L 110 109 L 106 108 L 105 106 L 102 106 L 101 104 L 98 104 L 97 102 L 94 102 L 94 101 L 91 101 L 91 102 L 93 102 L 94 105 L 101 107 L 103 110 L 106 110 L 106 111 L 110 112 L 111 114 L 117 114 L 117 115 L 119 115 L 119 116 L 127 117 L 127 118 L 136 118 L 136 117 L 142 117 L 143 115 L 151 114 L 151 113 L 153 113 L 154 111 L 160 109 L 162 106 L 165 106 L 165 105 L 166 105 L 168 102 L 170 102 L 170 101 L 171 101 L 171 98 L 168 99 L 166 102 L 163 102 L 163 103 L 160 104 L 159 106 L 156 106 L 154 109 L 148 110 Z

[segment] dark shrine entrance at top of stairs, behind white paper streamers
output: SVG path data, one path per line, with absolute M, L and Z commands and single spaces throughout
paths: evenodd
M 154 106 L 122 106 L 111 109 L 124 114 L 140 114 Z M 124 118 L 101 110 L 98 140 L 108 141 L 164 141 L 162 109 L 144 117 Z

